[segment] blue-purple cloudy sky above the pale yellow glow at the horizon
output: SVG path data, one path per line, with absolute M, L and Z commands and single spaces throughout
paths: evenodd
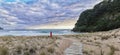
M 81 12 L 93 8 L 100 1 L 102 0 L 0 0 L 0 27 L 24 29 L 37 26 L 39 29 L 41 25 L 77 21 Z

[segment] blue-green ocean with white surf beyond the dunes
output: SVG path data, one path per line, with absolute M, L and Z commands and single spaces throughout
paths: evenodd
M 49 35 L 50 32 L 53 35 L 69 35 L 76 34 L 71 31 L 71 29 L 9 29 L 9 30 L 0 30 L 0 36 L 40 36 L 40 35 Z

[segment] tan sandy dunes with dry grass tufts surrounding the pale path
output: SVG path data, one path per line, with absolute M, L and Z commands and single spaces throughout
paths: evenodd
M 119 29 L 76 35 L 1 36 L 0 55 L 65 55 L 73 41 L 82 43 L 83 55 L 120 55 Z

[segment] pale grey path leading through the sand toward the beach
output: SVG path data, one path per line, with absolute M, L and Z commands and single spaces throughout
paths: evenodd
M 65 49 L 64 55 L 83 55 L 82 44 L 76 39 L 72 39 L 72 38 L 68 38 L 68 39 L 72 41 L 72 43 L 67 49 Z

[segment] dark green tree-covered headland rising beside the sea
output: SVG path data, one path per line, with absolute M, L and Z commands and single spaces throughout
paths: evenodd
M 120 28 L 120 0 L 104 0 L 81 13 L 75 32 L 107 31 Z

